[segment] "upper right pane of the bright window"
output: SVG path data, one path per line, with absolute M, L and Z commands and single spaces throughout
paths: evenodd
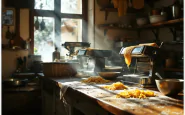
M 82 14 L 82 0 L 61 0 L 61 12 Z

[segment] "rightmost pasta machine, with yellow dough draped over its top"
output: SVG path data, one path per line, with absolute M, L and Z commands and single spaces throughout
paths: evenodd
M 120 54 L 124 55 L 126 48 L 120 50 Z M 162 59 L 160 48 L 152 46 L 136 46 L 132 49 L 132 61 L 134 61 L 133 71 L 124 67 L 123 81 L 126 83 L 136 83 L 142 87 L 156 87 L 155 79 L 158 78 L 155 73 L 163 74 Z

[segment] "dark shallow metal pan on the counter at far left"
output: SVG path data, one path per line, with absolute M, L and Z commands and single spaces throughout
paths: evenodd
M 2 81 L 4 87 L 18 87 L 18 86 L 25 86 L 28 82 L 28 79 L 20 80 L 20 79 L 5 79 Z

